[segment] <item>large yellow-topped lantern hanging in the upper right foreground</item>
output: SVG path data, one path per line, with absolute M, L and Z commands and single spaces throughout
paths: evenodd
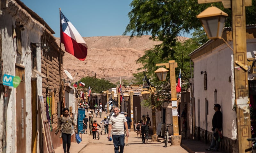
M 203 25 L 207 37 L 209 39 L 217 39 L 221 38 L 227 16 L 227 13 L 223 12 L 217 7 L 212 6 L 208 7 L 196 17 L 199 18 L 201 24 Z

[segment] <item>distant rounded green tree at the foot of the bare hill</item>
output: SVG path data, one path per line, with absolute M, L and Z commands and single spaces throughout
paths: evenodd
M 115 88 L 116 87 L 115 84 L 109 82 L 108 80 L 98 79 L 98 78 L 89 77 L 89 76 L 79 80 L 78 85 L 79 85 L 80 81 L 85 84 L 84 87 L 89 88 L 89 86 L 90 86 L 93 93 L 102 93 L 102 91 L 106 91 L 109 88 Z

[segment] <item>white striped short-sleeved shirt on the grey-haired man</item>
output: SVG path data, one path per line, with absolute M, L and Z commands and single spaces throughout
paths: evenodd
M 127 122 L 124 114 L 110 116 L 109 124 L 112 125 L 112 135 L 124 135 L 124 122 Z

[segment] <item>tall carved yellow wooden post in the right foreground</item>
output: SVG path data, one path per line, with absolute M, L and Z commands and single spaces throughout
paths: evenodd
M 251 144 L 247 138 L 251 138 L 250 122 L 250 100 L 248 98 L 248 73 L 247 73 L 247 50 L 246 50 L 246 25 L 245 25 L 245 6 L 251 6 L 252 0 L 198 0 L 198 3 L 222 2 L 225 8 L 232 8 L 232 36 L 233 36 L 233 55 L 234 55 L 234 78 L 236 94 L 236 124 L 238 136 L 239 152 L 245 152 Z M 231 6 L 232 4 L 232 6 Z M 206 9 L 207 10 L 207 9 Z M 203 13 L 203 12 L 202 12 Z M 200 15 L 200 14 L 199 14 Z M 198 15 L 198 16 L 199 16 Z M 197 16 L 197 17 L 198 17 Z M 199 16 L 200 18 L 200 16 Z M 208 17 L 205 19 L 209 20 Z M 201 17 L 202 20 L 202 17 Z M 202 22 L 202 21 L 201 21 Z M 207 36 L 210 35 L 208 30 L 212 24 L 202 22 Z M 223 27 L 219 27 L 221 30 Z M 209 37 L 209 36 L 208 36 Z M 219 36 L 220 37 L 220 36 Z M 219 38 L 218 37 L 218 38 Z M 222 38 L 223 39 L 223 38 Z M 224 40 L 224 39 L 223 39 Z

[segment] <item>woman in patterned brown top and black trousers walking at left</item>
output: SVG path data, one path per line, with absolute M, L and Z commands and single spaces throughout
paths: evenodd
M 75 129 L 75 133 L 77 133 L 74 118 L 69 116 L 69 109 L 64 108 L 63 116 L 60 117 L 57 129 L 55 131 L 56 135 L 58 134 L 59 131 L 61 132 L 60 137 L 62 137 L 64 153 L 69 153 L 73 127 Z

